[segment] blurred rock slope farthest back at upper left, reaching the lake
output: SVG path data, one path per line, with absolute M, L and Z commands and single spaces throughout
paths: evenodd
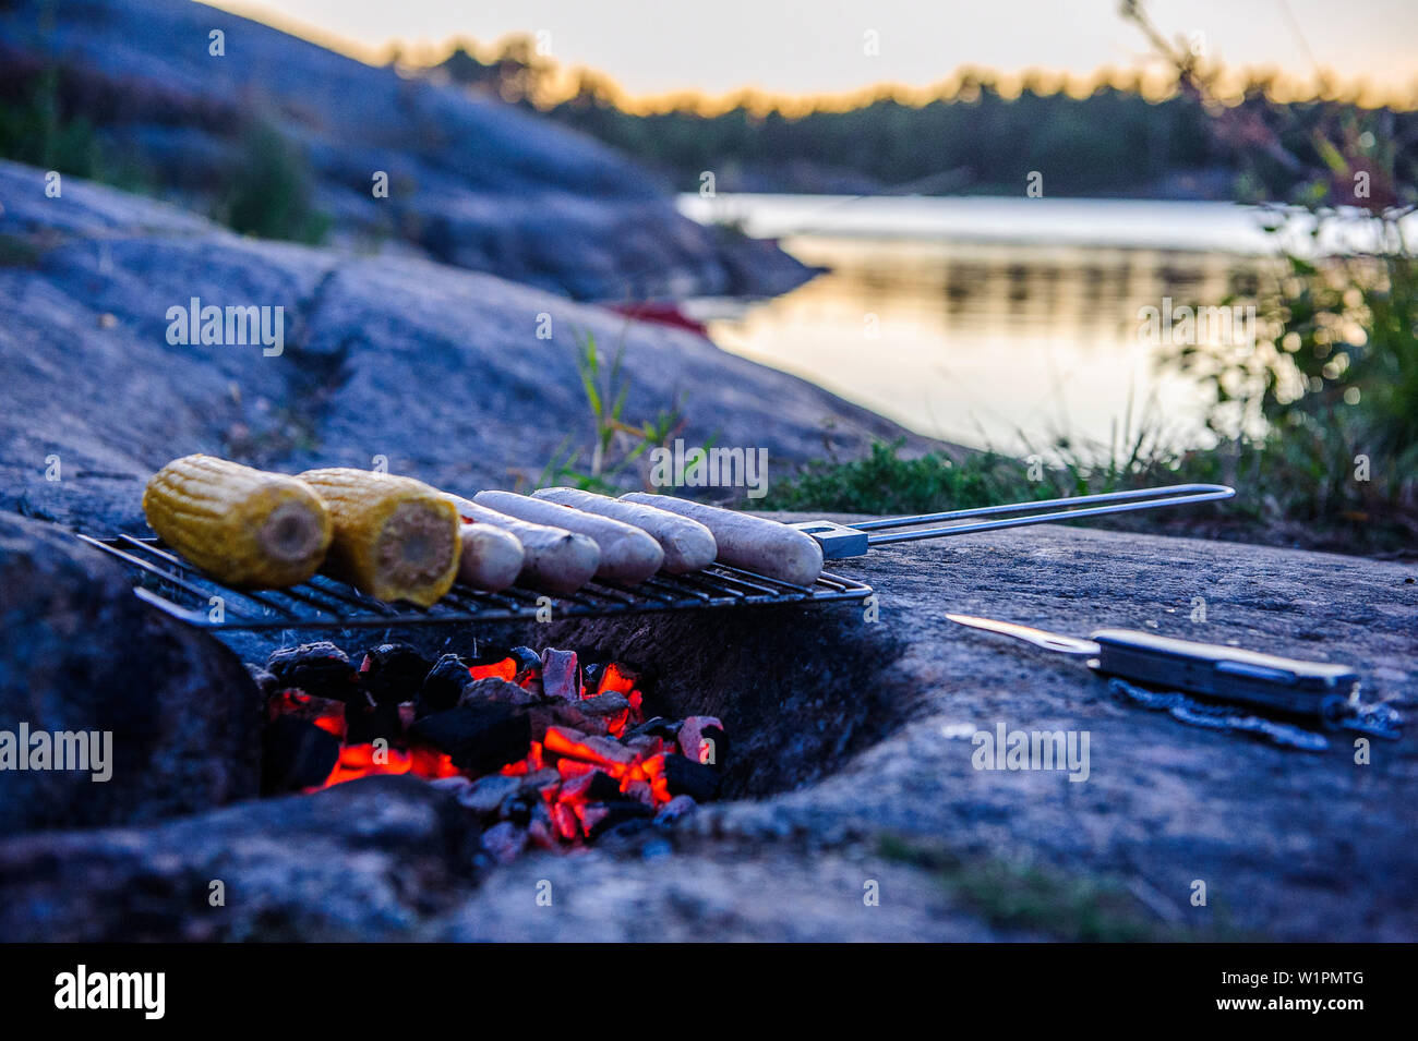
M 208 52 L 224 33 L 225 54 Z M 213 211 L 254 122 L 305 153 L 333 241 L 417 254 L 577 299 L 774 295 L 811 271 L 681 217 L 647 173 L 498 99 L 374 68 L 201 4 L 0 6 L 0 61 L 62 67 L 104 143 Z M 118 99 L 118 103 L 115 103 Z M 376 171 L 389 197 L 376 198 Z M 3 197 L 0 197 L 3 200 Z

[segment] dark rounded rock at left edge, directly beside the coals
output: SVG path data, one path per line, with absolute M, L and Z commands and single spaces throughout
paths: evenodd
M 0 731 L 111 735 L 104 782 L 0 769 L 0 831 L 147 823 L 257 795 L 261 700 L 245 667 L 138 601 L 98 551 L 0 514 Z

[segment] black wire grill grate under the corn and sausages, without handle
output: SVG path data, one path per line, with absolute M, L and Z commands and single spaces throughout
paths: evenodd
M 203 629 L 356 629 L 533 620 L 547 606 L 553 618 L 594 618 L 750 603 L 861 602 L 872 593 L 869 585 L 825 572 L 811 586 L 798 586 L 715 564 L 691 575 L 655 575 L 634 589 L 591 582 L 566 596 L 523 586 L 486 593 L 455 585 L 434 606 L 418 608 L 376 601 L 326 575 L 291 589 L 231 589 L 169 552 L 157 540 L 130 535 L 105 540 L 84 534 L 79 538 L 133 568 L 139 576 L 133 592 L 140 599 Z M 221 598 L 220 612 L 214 610 L 214 596 Z

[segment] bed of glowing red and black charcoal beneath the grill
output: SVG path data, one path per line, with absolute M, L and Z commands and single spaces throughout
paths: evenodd
M 257 680 L 265 795 L 420 776 L 455 790 L 498 863 L 683 816 L 718 795 L 727 753 L 716 717 L 647 715 L 637 670 L 569 650 L 319 642 L 274 652 Z

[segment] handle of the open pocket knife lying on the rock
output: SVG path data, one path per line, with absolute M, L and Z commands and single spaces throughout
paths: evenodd
M 1302 661 L 1193 643 L 1133 629 L 1099 629 L 1098 671 L 1218 700 L 1245 701 L 1303 715 L 1336 711 L 1358 674 L 1349 666 Z

